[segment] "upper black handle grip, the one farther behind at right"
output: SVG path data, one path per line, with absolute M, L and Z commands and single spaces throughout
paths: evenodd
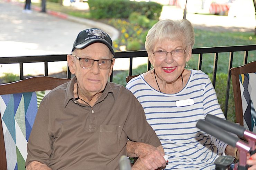
M 239 137 L 244 137 L 244 131 L 246 129 L 243 126 L 240 126 L 235 123 L 231 123 L 229 121 L 223 120 L 211 114 L 207 114 L 207 116 L 205 117 L 205 120 L 231 133 L 235 133 Z

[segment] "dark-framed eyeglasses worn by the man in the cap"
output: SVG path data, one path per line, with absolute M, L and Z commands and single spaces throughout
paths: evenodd
M 75 55 L 72 55 L 72 56 L 76 57 L 77 60 L 79 60 L 80 67 L 82 67 L 83 69 L 92 68 L 92 66 L 94 64 L 94 61 L 98 62 L 98 65 L 99 65 L 100 69 L 109 69 L 110 66 L 111 66 L 111 63 L 113 61 L 112 59 L 93 60 L 93 59 L 90 59 L 90 58 L 80 58 L 80 57 L 77 57 Z

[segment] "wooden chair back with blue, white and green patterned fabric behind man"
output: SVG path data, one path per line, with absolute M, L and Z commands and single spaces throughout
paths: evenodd
M 27 140 L 40 102 L 71 79 L 31 77 L 0 84 L 0 169 L 25 170 Z

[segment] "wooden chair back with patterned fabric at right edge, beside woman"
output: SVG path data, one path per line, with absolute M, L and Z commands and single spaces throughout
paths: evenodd
M 256 61 L 231 68 L 236 122 L 256 132 Z

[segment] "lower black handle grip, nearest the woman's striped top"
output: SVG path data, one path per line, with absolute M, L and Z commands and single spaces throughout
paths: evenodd
M 196 127 L 220 139 L 221 141 L 230 144 L 232 147 L 236 147 L 238 138 L 232 136 L 227 131 L 215 126 L 214 124 L 204 120 L 198 120 L 198 122 L 196 123 Z

